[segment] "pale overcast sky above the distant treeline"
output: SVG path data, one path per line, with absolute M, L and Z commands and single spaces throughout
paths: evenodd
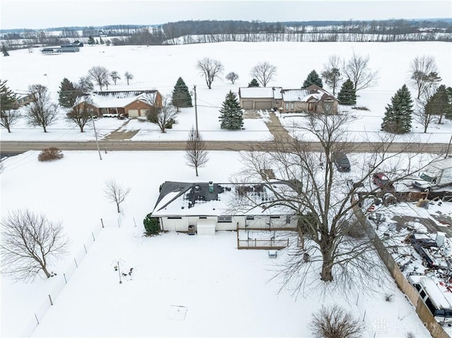
M 153 25 L 179 20 L 452 18 L 452 1 L 0 0 L 0 28 Z

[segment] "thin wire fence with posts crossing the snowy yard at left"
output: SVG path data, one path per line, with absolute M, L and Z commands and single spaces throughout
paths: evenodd
M 114 227 L 118 227 L 118 225 L 114 224 Z M 63 273 L 59 272 L 58 274 L 55 274 L 54 277 L 51 277 L 53 283 L 52 289 L 50 289 L 48 294 L 42 296 L 42 303 L 36 308 L 31 318 L 23 321 L 24 329 L 20 337 L 30 337 L 33 334 L 37 325 L 40 324 L 40 321 L 44 318 L 47 310 L 54 305 L 54 302 L 61 293 L 61 290 L 63 290 L 64 286 L 69 282 L 69 279 L 71 279 L 73 273 L 81 264 L 83 258 L 85 258 L 85 255 L 88 253 L 90 247 L 96 241 L 97 236 L 103 228 L 105 228 L 105 225 L 103 220 L 100 219 L 100 224 L 94 227 L 93 231 L 90 231 L 87 239 L 85 239 L 81 248 L 73 256 L 73 259 L 69 263 L 68 267 L 66 267 L 66 270 Z

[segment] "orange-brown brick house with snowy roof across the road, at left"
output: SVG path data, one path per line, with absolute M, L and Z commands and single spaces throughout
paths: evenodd
M 150 107 L 162 107 L 162 95 L 157 90 L 116 90 L 93 92 L 89 95 L 97 114 L 129 117 L 146 116 Z

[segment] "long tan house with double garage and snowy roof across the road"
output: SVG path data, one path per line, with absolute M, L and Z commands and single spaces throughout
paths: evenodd
M 317 85 L 304 89 L 240 87 L 240 107 L 245 110 L 278 110 L 281 113 L 315 112 L 336 114 L 338 99 Z

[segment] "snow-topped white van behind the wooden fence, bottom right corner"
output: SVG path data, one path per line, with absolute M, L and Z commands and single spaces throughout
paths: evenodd
M 439 289 L 433 279 L 423 274 L 408 274 L 408 282 L 419 292 L 422 301 L 429 308 L 439 324 L 452 323 L 452 293 Z

